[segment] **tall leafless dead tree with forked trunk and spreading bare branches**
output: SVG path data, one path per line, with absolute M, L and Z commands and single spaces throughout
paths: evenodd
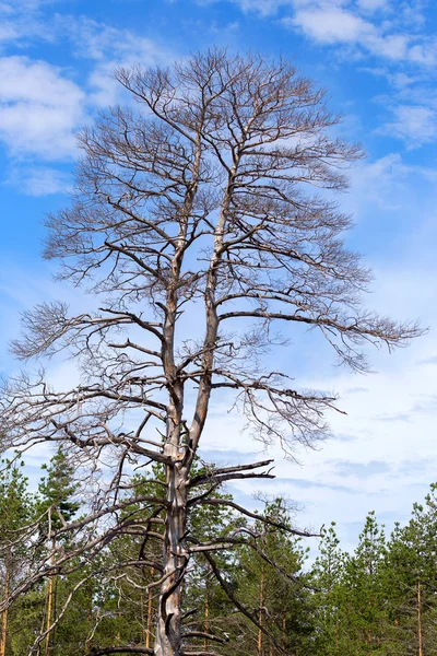
M 75 191 L 49 218 L 45 248 L 95 311 L 69 316 L 63 303 L 42 304 L 25 314 L 13 347 L 22 360 L 67 351 L 81 383 L 59 391 L 44 373 L 9 380 L 0 421 L 3 448 L 63 442 L 78 470 L 87 468 L 94 497 L 82 528 L 118 517 L 120 503 L 149 504 L 150 522 L 137 528 L 163 542 L 163 562 L 146 563 L 160 573 L 153 653 L 179 656 L 196 654 L 186 651 L 181 613 L 190 559 L 203 553 L 229 593 L 213 552 L 245 539 L 196 543 L 190 509 L 231 503 L 214 496 L 224 481 L 272 476 L 268 461 L 191 476 L 213 393 L 233 394 L 256 436 L 293 455 L 326 434 L 335 399 L 272 371 L 270 348 L 304 324 L 365 371 L 365 342 L 391 349 L 420 330 L 362 309 L 368 272 L 345 249 L 350 219 L 328 194 L 347 186 L 343 169 L 362 151 L 333 136 L 339 117 L 293 65 L 214 49 L 172 70 L 120 69 L 116 78 L 137 103 L 79 134 Z M 120 502 L 132 468 L 150 462 L 165 469 L 165 494 L 132 491 Z M 162 531 L 153 529 L 160 518 Z M 123 522 L 90 531 L 75 557 L 92 558 Z M 68 558 L 55 559 L 57 571 Z M 33 579 L 45 574 L 39 566 Z

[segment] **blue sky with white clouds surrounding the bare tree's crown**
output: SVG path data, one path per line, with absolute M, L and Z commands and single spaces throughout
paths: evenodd
M 390 358 L 374 353 L 377 373 L 364 378 L 310 341 L 288 352 L 302 385 L 335 389 L 347 415 L 331 418 L 332 440 L 302 453 L 302 467 L 273 449 L 269 491 L 302 502 L 304 524 L 338 520 L 346 543 L 369 509 L 389 526 L 404 519 L 437 480 L 436 24 L 425 0 L 0 0 L 0 370 L 15 367 L 5 343 L 20 311 L 81 302 L 39 259 L 42 222 L 67 202 L 74 130 L 122 102 L 115 66 L 167 65 L 215 44 L 283 54 L 327 87 L 341 134 L 367 151 L 341 202 L 356 220 L 347 242 L 375 271 L 368 305 L 430 330 Z M 69 365 L 50 375 L 64 384 Z M 226 409 L 223 399 L 205 453 L 257 449 Z

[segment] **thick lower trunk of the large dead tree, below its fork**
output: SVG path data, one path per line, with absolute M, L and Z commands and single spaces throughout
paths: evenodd
M 178 429 L 179 430 L 179 429 Z M 170 447 L 170 445 L 168 445 Z M 177 449 L 177 447 L 176 447 Z M 173 449 L 168 449 L 173 450 Z M 175 460 L 174 460 L 175 461 Z M 164 571 L 155 639 L 156 656 L 179 656 L 181 642 L 181 578 L 187 557 L 181 539 L 187 525 L 187 472 L 182 464 L 167 466 L 167 513 Z

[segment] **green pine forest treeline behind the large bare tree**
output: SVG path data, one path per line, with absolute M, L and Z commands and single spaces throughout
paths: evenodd
M 1 473 L 2 597 L 15 590 L 15 600 L 1 616 L 0 656 L 150 653 L 160 590 L 154 554 L 158 561 L 164 530 L 160 516 L 151 517 L 141 502 L 123 509 L 121 494 L 118 535 L 101 549 L 98 566 L 90 563 L 87 577 L 81 544 L 91 536 L 83 528 L 74 531 L 74 518 L 90 512 L 78 471 L 62 449 L 44 469 L 37 494 L 16 462 L 4 462 Z M 199 462 L 197 469 L 202 476 Z M 163 494 L 162 476 L 158 466 L 133 475 L 139 499 Z M 224 490 L 217 494 L 234 503 Z M 433 484 L 410 522 L 397 524 L 390 536 L 369 513 L 353 553 L 342 549 L 332 524 L 318 538 L 314 562 L 308 544 L 317 538 L 291 530 L 282 499 L 265 502 L 270 524 L 256 515 L 241 518 L 231 504 L 194 506 L 187 539 L 192 530 L 208 543 L 217 529 L 225 539 L 214 558 L 200 549 L 190 562 L 182 598 L 186 648 L 223 656 L 437 654 L 436 494 Z M 151 520 L 145 544 L 144 523 L 150 528 Z M 63 538 L 54 530 L 67 525 Z M 38 531 L 29 531 L 32 526 Z M 236 532 L 257 535 L 257 542 L 235 546 Z M 64 550 L 76 550 L 76 562 L 57 573 Z M 35 559 L 46 563 L 47 575 L 31 585 Z

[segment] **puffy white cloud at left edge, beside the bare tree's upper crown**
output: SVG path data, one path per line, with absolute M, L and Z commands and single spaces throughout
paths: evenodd
M 27 57 L 0 59 L 0 139 L 15 157 L 57 161 L 74 151 L 83 91 L 61 69 Z

